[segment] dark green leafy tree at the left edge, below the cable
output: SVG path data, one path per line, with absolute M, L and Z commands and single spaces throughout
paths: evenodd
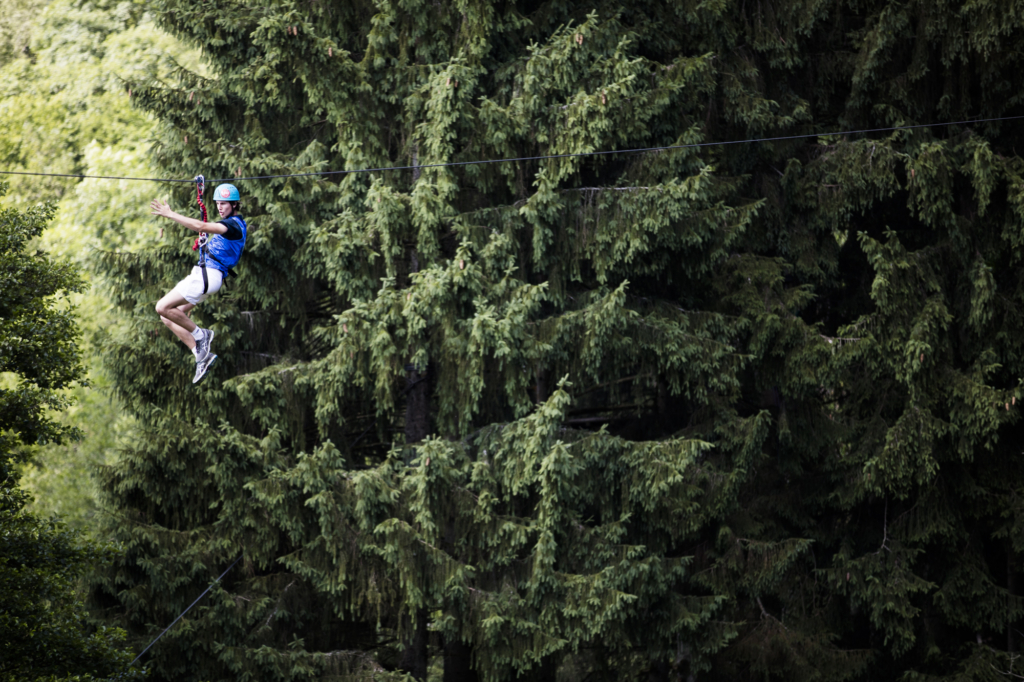
M 0 197 L 6 191 L 0 184 Z M 32 253 L 54 212 L 0 210 L 0 680 L 96 679 L 126 669 L 125 633 L 93 627 L 78 594 L 90 564 L 111 552 L 80 544 L 57 521 L 25 511 L 15 464 L 25 445 L 60 442 L 74 429 L 52 418 L 68 406 L 63 389 L 83 377 L 74 310 L 61 298 L 80 290 L 77 268 Z M 72 677 L 74 676 L 74 677 Z M 125 679 L 135 679 L 128 674 Z

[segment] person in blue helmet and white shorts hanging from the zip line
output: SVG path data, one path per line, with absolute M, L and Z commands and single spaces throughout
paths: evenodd
M 206 217 L 206 207 L 202 203 L 202 184 L 199 186 L 200 207 Z M 247 226 L 239 214 L 241 197 L 238 188 L 233 184 L 221 184 L 214 190 L 213 197 L 217 202 L 217 213 L 220 214 L 217 222 L 183 216 L 159 199 L 150 204 L 153 215 L 170 218 L 200 233 L 193 247 L 194 250 L 200 250 L 199 264 L 193 267 L 188 276 L 157 302 L 157 314 L 161 322 L 196 355 L 194 384 L 203 380 L 217 356 L 210 350 L 213 330 L 202 329 L 188 315 L 193 308 L 220 290 L 224 278 L 233 274 L 231 268 L 238 264 L 246 246 Z

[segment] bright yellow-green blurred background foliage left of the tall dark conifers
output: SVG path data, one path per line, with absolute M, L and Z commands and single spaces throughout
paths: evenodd
M 195 66 L 196 55 L 158 31 L 137 3 L 56 0 L 26 6 L 25 16 L 10 6 L 12 13 L 5 9 L 3 18 L 10 18 L 12 26 L 17 19 L 19 32 L 31 29 L 18 38 L 31 49 L 0 68 L 3 169 L 156 175 L 147 156 L 154 123 L 132 109 L 125 79 L 157 78 L 179 61 Z M 99 360 L 99 349 L 118 316 L 91 264 L 97 250 L 157 242 L 159 230 L 132 208 L 147 204 L 153 187 L 124 180 L 12 177 L 10 201 L 15 206 L 60 199 L 60 211 L 40 244 L 79 263 L 83 278 L 95 285 L 72 296 L 84 332 L 90 386 L 73 391 L 77 402 L 60 419 L 79 428 L 83 438 L 40 447 L 23 471 L 23 484 L 35 497 L 35 513 L 60 514 L 70 525 L 91 535 L 98 527 L 92 470 L 114 460 L 119 438 L 132 424 L 113 398 Z

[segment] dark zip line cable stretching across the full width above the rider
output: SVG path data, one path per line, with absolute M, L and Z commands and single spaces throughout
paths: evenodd
M 793 139 L 807 139 L 810 137 L 835 137 L 838 135 L 861 135 L 874 132 L 895 132 L 897 130 L 914 130 L 916 128 L 939 128 L 946 126 L 972 125 L 976 123 L 997 123 L 1000 121 L 1017 121 L 1024 119 L 1024 116 L 1001 116 L 992 119 L 972 119 L 970 121 L 949 121 L 946 123 L 920 123 L 912 126 L 889 126 L 886 128 L 862 128 L 860 130 L 840 130 L 824 133 L 801 133 L 798 135 L 778 135 L 775 137 L 751 137 L 748 139 L 721 140 L 716 142 L 693 142 L 692 144 L 670 144 L 667 146 L 644 146 L 632 150 L 601 150 L 598 152 L 577 152 L 573 154 L 549 154 L 537 157 L 514 157 L 508 159 L 480 159 L 476 161 L 451 161 L 443 164 L 422 164 L 419 166 L 381 166 L 379 168 L 353 168 L 351 170 L 340 171 L 313 171 L 310 173 L 282 173 L 279 175 L 251 175 L 248 177 L 224 177 L 210 182 L 238 182 L 241 180 L 269 180 L 286 177 L 311 177 L 317 175 L 347 175 L 349 173 L 379 173 L 394 170 L 423 170 L 424 168 L 450 168 L 453 166 L 480 166 L 484 164 L 514 163 L 518 161 L 544 161 L 547 159 L 570 159 L 577 157 L 599 157 L 609 154 L 643 154 L 645 152 L 669 152 L 671 150 L 695 150 L 706 146 L 726 146 L 729 144 L 753 144 L 755 142 L 778 142 Z M 79 179 L 92 180 L 138 180 L 143 182 L 195 182 L 195 178 L 187 180 L 176 178 L 160 177 L 125 177 L 120 175 L 76 175 L 72 173 L 32 173 L 28 171 L 4 171 L 0 170 L 0 175 L 31 175 L 36 177 L 74 177 Z

